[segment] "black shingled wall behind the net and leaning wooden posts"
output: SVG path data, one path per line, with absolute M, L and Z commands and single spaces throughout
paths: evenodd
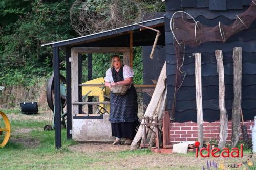
M 170 32 L 170 18 L 178 10 L 188 12 L 196 21 L 207 26 L 216 26 L 219 21 L 230 25 L 236 19 L 236 14 L 244 12 L 251 1 L 244 0 L 166 0 L 165 42 L 167 63 L 167 100 L 168 110 L 171 110 L 174 98 L 176 58 L 173 47 L 173 35 Z M 186 4 L 187 3 L 187 4 Z M 224 4 L 223 4 L 224 3 Z M 225 9 L 226 8 L 226 9 Z M 207 42 L 197 48 L 185 47 L 183 71 L 186 77 L 176 94 L 175 121 L 197 121 L 195 93 L 195 57 L 194 53 L 202 53 L 202 95 L 203 119 L 208 122 L 219 120 L 218 74 L 215 50 L 223 51 L 225 74 L 225 104 L 228 119 L 231 119 L 233 102 L 233 60 L 232 48 L 243 48 L 242 76 L 242 109 L 245 120 L 253 120 L 256 115 L 256 22 L 248 30 L 230 37 L 225 43 Z M 193 36 L 193 35 L 191 35 Z

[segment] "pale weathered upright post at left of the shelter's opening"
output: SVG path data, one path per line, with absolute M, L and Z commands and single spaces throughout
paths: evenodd
M 73 48 L 71 50 L 71 89 L 71 103 L 78 102 L 78 53 Z M 72 105 L 72 115 L 79 112 L 78 108 L 78 105 Z

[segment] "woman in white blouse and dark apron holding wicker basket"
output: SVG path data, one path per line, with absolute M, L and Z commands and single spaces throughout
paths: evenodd
M 113 56 L 111 68 L 106 71 L 105 85 L 109 88 L 116 85 L 128 86 L 133 82 L 133 75 L 132 68 L 127 65 L 123 66 L 119 56 Z M 139 124 L 137 113 L 137 93 L 133 85 L 124 95 L 110 93 L 109 120 L 112 136 L 116 137 L 114 145 L 121 144 L 121 138 L 126 138 L 124 144 L 131 145 Z

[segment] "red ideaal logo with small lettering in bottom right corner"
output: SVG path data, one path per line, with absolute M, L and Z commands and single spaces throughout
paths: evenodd
M 200 150 L 198 149 L 200 145 L 200 142 L 195 142 L 195 146 L 196 148 L 196 157 L 203 157 L 203 158 L 218 158 L 218 157 L 222 157 L 222 158 L 244 158 L 243 161 L 239 162 L 239 163 L 232 163 L 229 164 L 227 166 L 224 165 L 223 162 L 221 163 L 217 163 L 215 161 L 208 161 L 206 162 L 206 166 L 203 166 L 203 170 L 207 169 L 230 169 L 230 168 L 240 168 L 242 166 L 245 166 L 243 169 L 255 169 L 256 165 L 254 165 L 254 163 L 251 161 L 251 158 L 253 156 L 253 145 L 252 143 L 250 143 L 250 153 L 247 156 L 244 156 L 243 154 L 243 148 L 244 145 L 240 144 L 240 149 L 239 148 L 222 148 L 222 150 L 220 148 L 217 147 L 211 147 L 210 144 L 207 145 L 206 148 L 201 148 Z M 211 149 L 210 149 L 211 148 Z

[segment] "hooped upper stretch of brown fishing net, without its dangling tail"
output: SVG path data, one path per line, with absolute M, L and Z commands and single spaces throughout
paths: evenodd
M 177 15 L 181 15 L 178 18 Z M 209 41 L 225 42 L 232 35 L 248 29 L 256 19 L 256 2 L 252 1 L 250 7 L 242 14 L 237 15 L 231 25 L 219 25 L 208 27 L 195 21 L 191 15 L 183 11 L 177 11 L 170 20 L 170 28 L 178 45 L 184 43 L 191 47 L 197 47 L 201 43 Z

